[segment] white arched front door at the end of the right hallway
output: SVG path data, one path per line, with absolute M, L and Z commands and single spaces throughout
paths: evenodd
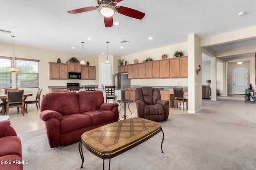
M 238 67 L 233 71 L 233 93 L 245 94 L 245 89 L 248 86 L 248 70 L 244 67 Z

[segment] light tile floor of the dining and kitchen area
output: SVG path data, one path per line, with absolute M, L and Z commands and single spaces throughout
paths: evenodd
M 136 103 L 132 102 L 130 103 L 130 111 L 132 112 L 132 117 L 137 117 L 137 110 L 136 110 Z M 119 107 L 120 109 L 120 107 Z M 128 104 L 126 104 L 126 115 L 128 115 L 130 118 L 131 113 L 128 109 Z M 186 111 L 186 108 L 184 108 L 184 111 L 182 111 L 181 108 L 170 108 L 169 114 L 186 114 L 188 113 Z M 26 133 L 28 131 L 34 131 L 37 129 L 44 129 L 44 121 L 42 121 L 39 118 L 40 110 L 36 109 L 35 104 L 28 105 L 28 113 L 24 113 L 24 116 L 22 116 L 21 112 L 19 113 L 16 108 L 10 108 L 9 121 L 11 122 L 12 127 L 14 127 L 17 134 L 20 133 Z M 119 113 L 119 119 L 122 120 L 124 117 L 124 105 L 122 104 L 122 109 Z

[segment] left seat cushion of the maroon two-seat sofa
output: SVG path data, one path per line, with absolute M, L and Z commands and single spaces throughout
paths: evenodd
M 64 115 L 60 121 L 60 133 L 73 131 L 75 129 L 80 129 L 91 125 L 92 119 L 88 115 L 81 113 Z

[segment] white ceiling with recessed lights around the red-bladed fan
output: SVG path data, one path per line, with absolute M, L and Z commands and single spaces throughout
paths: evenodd
M 67 12 L 96 6 L 96 0 L 0 0 L 0 29 L 12 31 L 15 45 L 81 54 L 80 42 L 84 41 L 84 55 L 96 56 L 106 54 L 106 41 L 110 41 L 108 54 L 124 56 L 187 41 L 191 33 L 202 38 L 256 25 L 255 0 L 158 2 L 123 0 L 118 6 L 144 12 L 145 17 L 137 20 L 116 12 L 113 21 L 120 25 L 106 28 L 98 10 Z M 241 11 L 246 14 L 238 16 Z M 122 44 L 122 40 L 130 43 Z M 0 33 L 0 42 L 11 44 L 10 34 Z M 255 39 L 212 49 L 219 51 L 252 43 L 256 45 Z

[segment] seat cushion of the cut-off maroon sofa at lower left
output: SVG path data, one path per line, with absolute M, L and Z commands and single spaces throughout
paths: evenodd
M 20 138 L 16 136 L 7 136 L 0 138 L 0 157 L 9 154 L 22 156 Z

